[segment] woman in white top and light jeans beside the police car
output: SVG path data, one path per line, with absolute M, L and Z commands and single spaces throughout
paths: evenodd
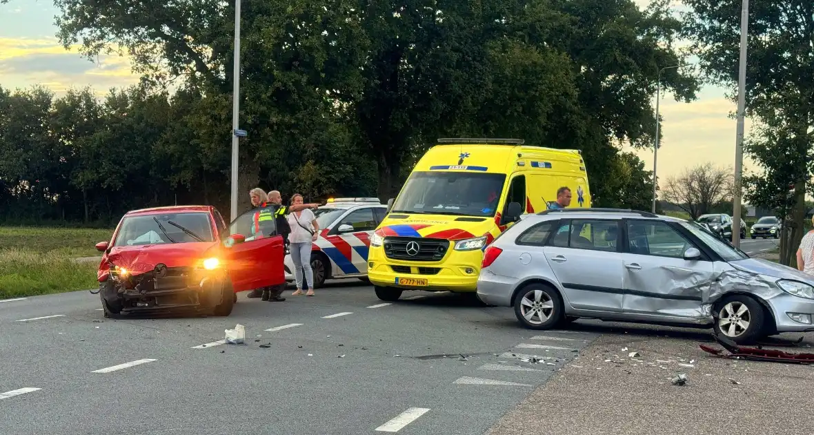
M 303 196 L 295 193 L 291 196 L 291 205 L 303 203 Z M 311 270 L 311 243 L 317 239 L 319 224 L 313 212 L 309 209 L 288 213 L 288 226 L 291 234 L 288 241 L 291 244 L 291 260 L 294 261 L 294 276 L 297 281 L 297 291 L 291 296 L 303 294 L 303 270 L 305 282 L 308 283 L 308 296 L 313 296 L 313 270 Z

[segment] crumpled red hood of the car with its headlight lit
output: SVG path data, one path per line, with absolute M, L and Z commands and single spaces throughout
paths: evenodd
M 217 243 L 211 242 L 120 246 L 111 249 L 107 261 L 124 267 L 132 275 L 139 275 L 154 270 L 159 263 L 167 267 L 195 266 L 215 246 Z

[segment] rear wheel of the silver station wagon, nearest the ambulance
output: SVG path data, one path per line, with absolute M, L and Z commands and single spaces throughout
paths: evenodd
M 562 321 L 562 297 L 545 284 L 529 284 L 514 299 L 514 315 L 529 329 L 551 329 Z

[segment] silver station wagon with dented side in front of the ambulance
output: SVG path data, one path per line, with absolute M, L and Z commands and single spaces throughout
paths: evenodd
M 711 326 L 737 343 L 814 331 L 814 277 L 698 223 L 631 210 L 524 216 L 486 249 L 478 297 L 514 306 L 532 329 L 579 318 Z

